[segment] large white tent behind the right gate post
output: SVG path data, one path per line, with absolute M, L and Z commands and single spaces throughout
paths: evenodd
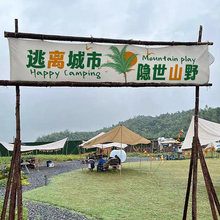
M 198 133 L 201 145 L 220 140 L 220 124 L 199 118 Z M 186 138 L 182 145 L 182 150 L 192 148 L 192 140 L 194 136 L 194 117 L 192 117 Z

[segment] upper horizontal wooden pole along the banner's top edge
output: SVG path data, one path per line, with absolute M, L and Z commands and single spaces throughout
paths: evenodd
M 91 42 L 91 43 L 113 43 L 113 44 L 135 44 L 135 45 L 213 45 L 213 42 L 165 42 L 165 41 L 141 41 L 141 40 L 123 40 L 123 39 L 109 39 L 109 38 L 93 38 L 93 37 L 76 37 L 76 36 L 61 36 L 61 35 L 48 35 L 48 34 L 35 34 L 35 33 L 15 33 L 5 32 L 5 37 L 12 38 L 28 38 L 38 40 L 56 40 L 56 41 L 80 41 L 80 42 Z

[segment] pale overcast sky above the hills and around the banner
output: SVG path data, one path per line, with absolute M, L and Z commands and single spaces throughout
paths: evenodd
M 137 39 L 213 41 L 211 88 L 200 107 L 220 106 L 220 1 L 65 0 L 0 2 L 0 79 L 9 79 L 4 31 Z M 0 141 L 15 136 L 15 88 L 0 87 Z M 194 88 L 21 88 L 22 141 L 52 132 L 93 131 L 137 115 L 156 116 L 194 107 Z

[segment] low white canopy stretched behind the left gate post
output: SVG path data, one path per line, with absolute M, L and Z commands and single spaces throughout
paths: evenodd
M 36 146 L 26 146 L 21 145 L 21 152 L 31 151 L 31 150 L 57 150 L 62 149 L 67 141 L 67 138 L 64 138 L 60 141 L 56 141 L 49 144 L 36 145 Z M 0 142 L 8 151 L 14 150 L 14 144 L 9 144 L 5 142 Z

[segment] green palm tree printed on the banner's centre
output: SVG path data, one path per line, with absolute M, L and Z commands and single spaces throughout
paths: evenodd
M 113 54 L 107 54 L 114 62 L 104 63 L 102 67 L 110 67 L 114 69 L 119 74 L 123 73 L 125 77 L 125 83 L 127 83 L 127 75 L 126 73 L 131 71 L 131 63 L 137 56 L 136 54 L 131 55 L 128 59 L 125 57 L 127 45 L 125 45 L 121 51 L 115 46 L 111 46 L 110 49 L 112 50 Z

